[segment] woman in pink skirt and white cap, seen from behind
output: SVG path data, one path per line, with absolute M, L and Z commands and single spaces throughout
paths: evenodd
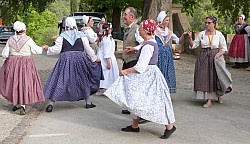
M 37 72 L 33 54 L 42 54 L 43 48 L 26 35 L 23 22 L 14 23 L 15 35 L 11 36 L 2 56 L 5 59 L 0 70 L 0 93 L 12 102 L 13 111 L 24 115 L 25 105 L 45 101 L 41 80 Z

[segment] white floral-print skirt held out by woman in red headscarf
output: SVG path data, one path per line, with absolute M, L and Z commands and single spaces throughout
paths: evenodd
M 104 95 L 146 120 L 164 125 L 175 122 L 168 85 L 155 65 L 140 74 L 120 76 Z

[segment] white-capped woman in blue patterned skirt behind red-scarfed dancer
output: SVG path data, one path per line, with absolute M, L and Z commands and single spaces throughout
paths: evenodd
M 169 28 L 169 16 L 165 11 L 159 13 L 157 17 L 159 25 L 155 32 L 155 40 L 158 44 L 158 64 L 157 66 L 164 75 L 170 93 L 176 92 L 176 77 L 174 69 L 174 57 L 170 47 L 170 41 L 176 44 L 183 41 L 183 36 L 179 39 Z

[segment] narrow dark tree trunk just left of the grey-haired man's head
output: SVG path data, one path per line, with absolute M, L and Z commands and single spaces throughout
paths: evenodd
M 121 17 L 121 9 L 119 7 L 114 7 L 112 14 L 112 26 L 114 32 L 121 32 L 120 17 Z

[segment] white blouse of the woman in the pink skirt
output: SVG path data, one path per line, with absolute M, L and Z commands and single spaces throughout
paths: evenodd
M 3 51 L 2 57 L 6 59 L 9 55 L 13 56 L 30 56 L 31 53 L 33 54 L 42 54 L 43 48 L 36 45 L 36 43 L 30 38 L 21 48 L 20 51 L 15 51 L 13 48 L 9 47 L 9 43 L 7 41 Z

